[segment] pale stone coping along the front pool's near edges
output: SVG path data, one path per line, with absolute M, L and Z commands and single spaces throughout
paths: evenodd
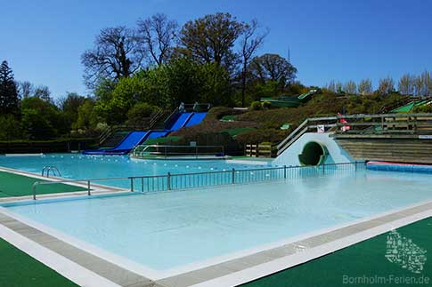
M 416 211 L 417 209 L 424 208 L 424 207 L 426 207 L 426 211 Z M 194 284 L 199 284 L 199 286 L 201 286 L 201 285 L 202 286 L 216 286 L 216 285 L 217 286 L 224 286 L 224 284 L 221 285 L 221 283 L 223 283 L 223 282 L 226 283 L 227 281 L 228 282 L 236 282 L 235 284 L 239 284 L 239 282 L 238 282 L 239 278 L 236 278 L 237 277 L 236 274 L 239 274 L 239 273 L 240 273 L 240 278 L 243 278 L 242 280 L 245 280 L 245 281 L 242 281 L 240 283 L 247 283 L 249 281 L 253 281 L 253 280 L 257 279 L 257 277 L 256 277 L 257 271 L 256 270 L 258 270 L 259 274 L 261 274 L 258 277 L 270 275 L 270 274 L 273 274 L 275 272 L 281 271 L 282 269 L 296 266 L 298 264 L 306 262 L 307 260 L 321 257 L 325 254 L 332 252 L 332 251 L 338 251 L 338 250 L 345 248 L 347 246 L 350 246 L 352 244 L 358 243 L 360 241 L 363 241 L 363 240 L 369 239 L 371 237 L 374 237 L 376 235 L 390 231 L 390 230 L 395 228 L 394 223 L 398 220 L 409 219 L 410 217 L 418 215 L 422 212 L 423 213 L 428 212 L 428 216 L 426 216 L 426 217 L 432 216 L 432 201 L 423 201 L 420 203 L 411 204 L 409 206 L 405 206 L 405 207 L 397 209 L 397 210 L 382 212 L 382 213 L 379 213 L 379 214 L 371 216 L 371 217 L 366 217 L 363 219 L 357 219 L 355 221 L 351 221 L 351 222 L 346 223 L 346 224 L 325 228 L 326 229 L 325 232 L 322 232 L 323 230 L 319 230 L 318 232 L 314 232 L 315 235 L 314 235 L 314 233 L 309 233 L 309 234 L 307 234 L 307 236 L 297 236 L 295 238 L 297 238 L 298 241 L 295 241 L 295 242 L 293 242 L 293 240 L 292 240 L 293 237 L 291 237 L 287 241 L 288 243 L 284 243 L 284 244 L 273 243 L 274 244 L 273 247 L 267 248 L 265 250 L 260 250 L 260 249 L 262 249 L 262 246 L 258 246 L 258 248 L 252 249 L 251 251 L 249 251 L 249 254 L 247 254 L 248 252 L 246 252 L 242 256 L 241 256 L 241 253 L 242 253 L 241 251 L 235 252 L 235 253 L 239 253 L 239 254 L 237 254 L 237 257 L 230 259 L 229 256 L 227 256 L 225 258 L 225 260 L 222 262 L 216 261 L 216 262 L 212 263 L 211 261 L 215 260 L 215 258 L 212 258 L 212 259 L 203 260 L 204 262 L 208 261 L 207 264 L 203 264 L 204 262 L 196 262 L 196 263 L 192 263 L 191 265 L 185 265 L 185 267 L 192 266 L 192 270 L 183 270 L 184 272 L 179 272 L 179 271 L 182 271 L 184 266 L 179 267 L 179 268 L 167 269 L 167 270 L 160 272 L 159 276 L 156 274 L 149 275 L 149 273 L 147 273 L 147 272 L 140 272 L 140 271 L 136 272 L 136 268 L 134 268 L 134 270 L 131 271 L 131 268 L 128 268 L 127 264 L 126 265 L 121 264 L 120 262 L 116 262 L 115 259 L 114 260 L 113 259 L 107 259 L 105 256 L 103 256 L 103 255 L 101 256 L 101 254 L 97 254 L 97 252 L 96 252 L 96 254 L 94 254 L 94 252 L 88 251 L 86 248 L 84 248 L 84 249 L 80 248 L 79 246 L 75 245 L 74 243 L 70 243 L 70 242 L 64 240 L 64 238 L 62 238 L 62 237 L 58 237 L 55 234 L 53 235 L 50 232 L 46 232 L 46 230 L 44 230 L 44 228 L 40 228 L 38 226 L 32 226 L 31 224 L 29 224 L 29 222 L 27 222 L 27 220 L 21 221 L 20 219 L 16 219 L 15 217 L 11 216 L 11 214 L 9 213 L 10 211 L 4 212 L 4 210 L 5 210 L 5 208 L 0 208 L 0 214 L 7 216 L 7 217 L 9 217 L 15 221 L 18 221 L 20 224 L 27 225 L 28 227 L 31 227 L 31 228 L 35 228 L 35 229 L 37 229 L 37 231 L 39 231 L 41 233 L 45 233 L 46 235 L 53 236 L 58 241 L 63 242 L 65 244 L 69 244 L 69 245 L 73 246 L 74 248 L 77 248 L 80 251 L 84 251 L 86 253 L 89 253 L 92 256 L 94 256 L 95 258 L 108 261 L 110 264 L 113 264 L 119 268 L 126 269 L 131 273 L 134 273 L 134 274 L 140 275 L 146 279 L 149 279 L 153 283 L 159 283 L 160 285 L 165 285 L 165 286 L 179 287 L 179 286 L 190 286 L 190 285 L 194 285 Z M 407 212 L 410 213 L 409 211 L 411 211 L 411 214 L 406 214 Z M 395 218 L 392 219 L 392 217 L 397 215 L 397 213 L 400 213 L 400 216 L 397 217 L 396 219 Z M 390 217 L 390 220 L 387 220 L 387 221 L 384 220 L 383 221 L 382 219 L 384 219 L 385 217 Z M 416 220 L 419 220 L 419 219 L 416 219 Z M 373 221 L 378 221 L 379 224 L 377 224 L 373 227 L 364 228 L 363 230 L 358 230 L 355 228 L 358 225 L 367 224 L 368 222 L 371 223 Z M 403 225 L 406 225 L 406 224 L 410 224 L 410 223 L 404 223 Z M 386 228 L 384 230 L 380 230 L 379 234 L 375 234 L 375 233 L 371 234 L 370 233 L 367 236 L 361 235 L 362 232 L 371 231 L 373 228 L 378 228 L 378 227 L 386 227 Z M 318 244 L 316 246 L 309 246 L 309 248 L 306 251 L 300 250 L 300 252 L 296 251 L 296 252 L 288 254 L 288 255 L 287 254 L 281 254 L 281 253 L 277 254 L 278 249 L 280 250 L 280 249 L 287 249 L 289 247 L 292 248 L 293 246 L 301 246 L 300 243 L 302 243 L 302 242 L 307 242 L 307 240 L 311 240 L 316 236 L 322 236 L 325 238 L 331 232 L 338 232 L 343 228 L 352 228 L 352 229 L 354 229 L 353 231 L 355 231 L 355 232 L 352 232 L 351 234 L 342 236 L 336 240 L 330 240 L 329 241 L 327 238 L 327 240 L 322 241 L 320 244 Z M 334 250 L 331 249 L 331 251 L 328 251 L 327 253 L 322 254 L 322 252 L 320 253 L 319 250 L 314 252 L 314 250 L 322 247 L 322 245 L 331 244 L 331 243 L 335 243 L 335 242 L 338 243 L 338 241 L 343 241 L 347 237 L 350 237 L 350 236 L 354 236 L 351 239 L 352 242 L 348 243 L 344 247 L 340 247 L 340 245 L 336 244 L 339 247 L 334 249 Z M 29 239 L 29 240 L 31 240 L 31 239 Z M 271 244 L 265 244 L 265 245 L 270 246 Z M 274 254 L 274 252 L 276 252 L 276 254 Z M 296 261 L 295 260 L 296 256 L 298 257 L 299 256 L 298 254 L 303 254 L 304 252 L 308 252 L 308 254 L 310 252 L 312 252 L 312 254 L 309 254 L 310 258 L 307 259 L 306 261 L 302 261 L 301 259 Z M 281 269 L 279 269 L 279 270 L 277 268 L 273 269 L 268 274 L 263 273 L 263 270 L 267 270 L 267 272 L 268 272 L 268 269 L 266 269 L 267 264 L 270 264 L 272 262 L 274 263 L 275 261 L 278 261 L 281 259 L 287 259 L 287 258 L 290 258 L 290 259 L 294 258 L 295 263 L 292 264 L 291 266 L 288 266 L 288 267 L 285 264 Z M 252 259 L 252 261 L 254 261 L 253 264 L 250 263 L 251 259 Z M 237 262 L 235 262 L 235 261 L 237 261 Z M 249 264 L 246 264 L 246 267 L 245 267 L 244 262 L 249 262 Z M 122 262 L 122 263 L 124 263 L 124 262 Z M 143 267 L 145 267 L 145 266 L 143 266 Z M 175 270 L 175 269 L 177 269 L 177 270 Z M 255 270 L 252 272 L 253 275 L 249 274 L 250 270 Z M 169 275 L 169 273 L 174 273 L 174 274 Z M 232 278 L 232 276 L 234 276 L 234 278 Z M 223 282 L 221 282 L 221 280 Z M 231 286 L 231 285 L 232 284 L 229 283 L 226 286 Z

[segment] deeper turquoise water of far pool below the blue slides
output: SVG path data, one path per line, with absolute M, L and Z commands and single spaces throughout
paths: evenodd
M 53 165 L 66 179 L 105 179 L 171 173 L 224 171 L 262 167 L 230 163 L 225 160 L 131 160 L 126 155 L 47 154 L 38 156 L 0 156 L 0 166 L 40 174 L 44 166 Z M 130 187 L 128 180 L 99 181 L 115 187 Z

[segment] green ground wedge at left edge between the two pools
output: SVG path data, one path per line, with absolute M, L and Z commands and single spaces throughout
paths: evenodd
M 32 195 L 31 187 L 41 179 L 30 178 L 7 171 L 0 171 L 0 197 Z M 37 187 L 37 195 L 83 191 L 86 188 L 65 184 L 42 185 Z

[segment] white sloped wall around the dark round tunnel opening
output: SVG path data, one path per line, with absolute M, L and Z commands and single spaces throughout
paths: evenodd
M 298 155 L 302 153 L 303 147 L 309 141 L 316 141 L 327 147 L 329 156 L 327 156 L 325 163 L 348 163 L 354 161 L 342 147 L 338 146 L 335 140 L 330 138 L 330 133 L 309 132 L 302 135 L 290 147 L 285 149 L 281 155 L 276 157 L 272 165 L 300 165 Z

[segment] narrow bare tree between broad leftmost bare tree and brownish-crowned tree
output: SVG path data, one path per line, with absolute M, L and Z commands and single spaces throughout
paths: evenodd
M 166 64 L 173 52 L 178 24 L 168 20 L 165 14 L 155 14 L 150 18 L 138 20 L 138 37 L 143 51 L 148 53 L 152 64 Z

